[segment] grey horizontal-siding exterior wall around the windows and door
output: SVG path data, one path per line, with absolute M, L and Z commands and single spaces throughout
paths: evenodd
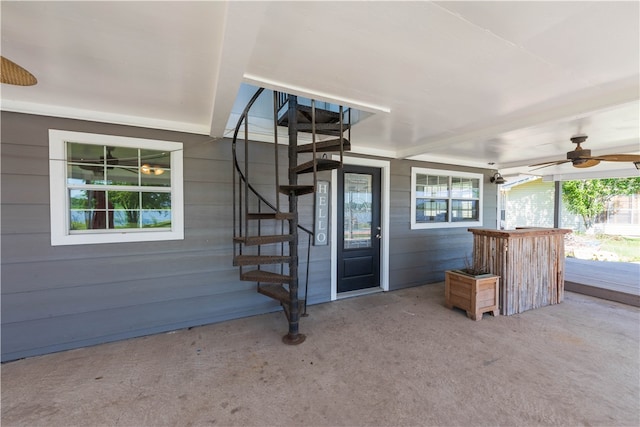
M 229 140 L 9 112 L 1 118 L 3 361 L 280 310 L 255 283 L 238 280 L 232 266 Z M 50 128 L 182 142 L 184 240 L 51 246 Z M 273 182 L 273 146 L 251 145 L 252 181 Z M 284 182 L 286 147 L 279 150 Z M 458 169 L 392 161 L 391 289 L 442 281 L 444 270 L 463 266 L 472 246 L 465 227 L 410 229 L 411 166 Z M 483 218 L 495 228 L 497 187 L 489 173 Z M 310 227 L 312 197 L 300 199 L 300 212 Z M 306 237 L 300 243 L 304 272 Z M 329 246 L 311 248 L 309 304 L 331 298 L 330 257 Z M 300 282 L 304 288 L 302 275 Z

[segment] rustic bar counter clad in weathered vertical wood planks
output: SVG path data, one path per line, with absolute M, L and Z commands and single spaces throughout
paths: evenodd
M 500 312 L 522 313 L 564 298 L 564 235 L 561 228 L 470 228 L 473 263 L 501 277 Z

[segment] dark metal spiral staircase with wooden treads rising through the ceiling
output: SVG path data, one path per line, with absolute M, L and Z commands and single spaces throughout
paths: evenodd
M 300 344 L 300 317 L 306 315 L 312 225 L 299 223 L 298 198 L 312 195 L 318 172 L 342 167 L 343 154 L 350 149 L 348 108 L 273 92 L 274 185 L 265 174 L 253 178 L 249 143 L 249 119 L 258 99 L 269 93 L 258 89 L 242 112 L 233 135 L 233 265 L 240 280 L 257 283 L 257 291 L 278 301 L 289 323 L 282 338 L 286 344 Z M 265 95 L 266 96 L 266 95 Z M 288 129 L 287 180 L 280 182 L 278 130 Z M 242 132 L 241 132 L 242 129 Z M 243 138 L 239 138 L 240 134 Z M 298 139 L 311 141 L 298 144 Z M 333 160 L 329 153 L 339 153 Z M 281 197 L 286 203 L 281 203 Z M 308 238 L 305 290 L 300 294 L 298 244 L 301 233 Z

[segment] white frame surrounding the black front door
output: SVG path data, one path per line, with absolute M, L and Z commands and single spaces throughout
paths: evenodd
M 333 156 L 340 160 L 339 155 Z M 391 162 L 388 160 L 367 159 L 363 157 L 344 156 L 346 165 L 368 166 L 380 169 L 380 225 L 382 239 L 380 239 L 380 287 L 363 290 L 361 293 L 371 293 L 389 290 L 389 206 Z M 338 171 L 331 172 L 331 301 L 338 299 Z M 356 291 L 357 292 L 357 291 Z

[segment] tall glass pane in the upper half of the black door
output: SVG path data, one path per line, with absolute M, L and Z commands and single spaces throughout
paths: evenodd
M 344 248 L 371 247 L 371 175 L 344 174 Z

